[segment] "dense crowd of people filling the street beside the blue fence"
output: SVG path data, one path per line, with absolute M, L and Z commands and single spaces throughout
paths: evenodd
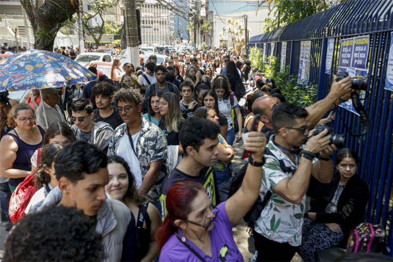
M 267 202 L 252 228 L 254 261 L 315 261 L 363 222 L 357 153 L 338 150 L 327 130 L 312 135 L 350 98 L 349 77 L 302 108 L 245 54 L 119 62 L 85 86 L 32 89 L 20 103 L 1 95 L 1 210 L 26 206 L 3 260 L 243 261 L 232 228 L 257 199 Z M 223 200 L 240 141 L 244 178 Z M 8 206 L 29 177 L 35 194 Z

